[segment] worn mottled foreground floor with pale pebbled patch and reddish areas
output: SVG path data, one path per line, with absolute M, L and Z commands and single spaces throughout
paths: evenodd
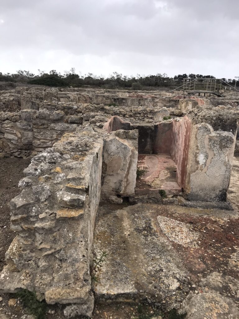
M 108 257 L 98 272 L 97 300 L 153 301 L 165 309 L 181 307 L 190 319 L 239 317 L 239 160 L 234 160 L 228 195 L 233 211 L 100 206 L 95 250 Z

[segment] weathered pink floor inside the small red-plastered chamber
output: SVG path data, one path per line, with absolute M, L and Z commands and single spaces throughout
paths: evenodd
M 168 154 L 139 154 L 138 167 L 148 171 L 136 181 L 135 193 L 164 189 L 167 195 L 178 195 L 181 188 L 176 182 L 177 166 Z

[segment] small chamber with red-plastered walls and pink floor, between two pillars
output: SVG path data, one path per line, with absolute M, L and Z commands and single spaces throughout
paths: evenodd
M 178 158 L 187 156 L 188 141 L 185 141 L 184 154 L 179 154 L 180 143 L 185 136 L 178 136 L 178 122 L 163 120 L 157 123 L 126 122 L 113 116 L 105 126 L 108 133 L 117 130 L 138 130 L 138 159 L 135 195 L 158 194 L 162 190 L 166 195 L 179 195 L 182 191 L 185 165 L 177 169 Z M 180 134 L 179 134 L 180 135 Z M 164 194 L 164 192 L 161 194 Z

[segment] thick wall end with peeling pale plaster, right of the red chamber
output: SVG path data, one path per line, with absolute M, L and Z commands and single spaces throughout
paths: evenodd
M 225 201 L 232 170 L 236 117 L 214 108 L 191 111 L 190 148 L 185 181 L 188 199 Z

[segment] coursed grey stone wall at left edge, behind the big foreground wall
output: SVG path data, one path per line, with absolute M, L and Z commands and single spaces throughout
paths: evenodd
M 82 116 L 42 109 L 18 113 L 0 112 L 0 152 L 14 156 L 34 155 L 51 147 L 63 133 L 76 130 Z

